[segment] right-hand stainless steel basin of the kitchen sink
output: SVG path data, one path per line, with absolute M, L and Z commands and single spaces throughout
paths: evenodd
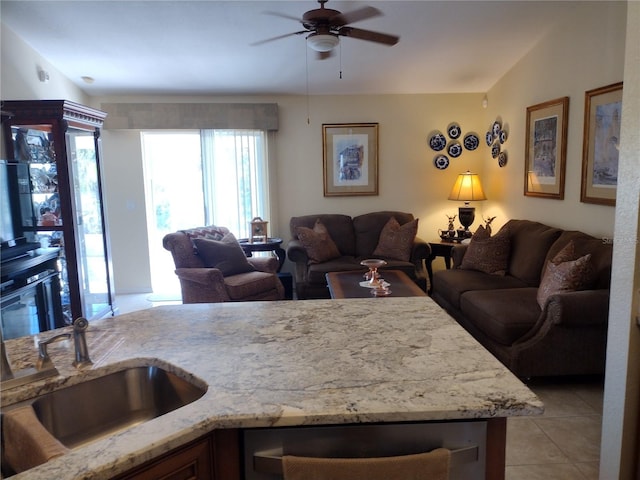
M 36 397 L 42 425 L 75 448 L 176 410 L 202 397 L 195 385 L 156 366 L 132 367 Z

